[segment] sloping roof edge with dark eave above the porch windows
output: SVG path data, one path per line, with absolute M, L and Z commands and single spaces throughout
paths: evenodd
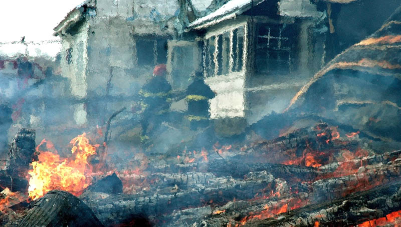
M 234 1 L 234 0 L 231 0 Z M 229 1 L 229 2 L 231 2 Z M 244 13 L 245 11 L 247 11 L 248 9 L 250 9 L 252 7 L 252 4 L 258 5 L 260 3 L 262 3 L 265 0 L 249 0 L 248 3 L 244 4 L 242 7 L 239 8 L 234 8 L 231 11 L 225 12 L 224 14 L 219 14 L 216 16 L 210 16 L 210 14 L 217 12 L 218 10 L 222 10 L 224 7 L 226 7 L 228 5 L 229 2 L 227 2 L 226 4 L 222 5 L 220 8 L 216 9 L 215 11 L 209 13 L 206 16 L 197 18 L 196 20 L 194 20 L 193 22 L 191 22 L 185 29 L 186 32 L 192 30 L 192 29 L 203 29 L 205 27 L 217 24 L 223 20 L 226 19 L 231 19 L 231 18 L 235 18 L 238 15 L 241 15 L 242 13 Z

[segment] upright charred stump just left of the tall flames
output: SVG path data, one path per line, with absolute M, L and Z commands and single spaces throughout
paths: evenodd
M 38 160 L 38 156 L 35 154 L 35 130 L 21 128 L 9 145 L 6 170 L 9 175 L 25 177 L 28 174 L 30 163 Z

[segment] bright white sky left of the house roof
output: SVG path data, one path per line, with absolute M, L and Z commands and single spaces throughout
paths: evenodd
M 0 0 L 0 42 L 56 39 L 53 28 L 84 0 Z

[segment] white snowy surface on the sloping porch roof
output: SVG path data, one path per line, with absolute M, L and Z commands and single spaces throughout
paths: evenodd
M 255 0 L 254 5 L 259 4 L 264 0 Z M 188 27 L 196 27 L 198 25 L 201 25 L 207 21 L 216 19 L 218 17 L 224 16 L 229 13 L 236 12 L 238 10 L 243 9 L 244 7 L 250 5 L 252 3 L 252 0 L 230 0 L 226 4 L 222 5 L 222 7 L 218 8 L 216 11 L 209 13 L 208 15 L 204 17 L 200 17 L 196 19 L 195 21 L 191 22 Z

